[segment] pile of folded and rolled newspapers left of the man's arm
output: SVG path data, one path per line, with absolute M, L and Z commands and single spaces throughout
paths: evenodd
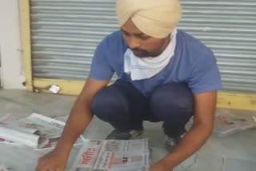
M 27 145 L 34 149 L 54 149 L 65 121 L 32 113 L 25 118 L 11 114 L 0 118 L 0 143 Z M 75 145 L 83 144 L 79 138 Z

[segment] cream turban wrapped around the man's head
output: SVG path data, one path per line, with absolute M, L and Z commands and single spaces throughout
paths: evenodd
M 182 16 L 179 0 L 117 0 L 118 22 L 123 26 L 130 18 L 144 34 L 166 38 Z

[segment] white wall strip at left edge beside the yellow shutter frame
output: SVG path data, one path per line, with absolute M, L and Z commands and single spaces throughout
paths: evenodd
M 0 0 L 1 85 L 24 89 L 24 62 L 21 43 L 21 15 L 18 0 Z

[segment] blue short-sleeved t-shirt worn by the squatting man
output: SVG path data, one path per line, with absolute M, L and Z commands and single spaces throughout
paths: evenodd
M 90 68 L 90 78 L 110 80 L 114 73 L 119 79 L 131 82 L 148 96 L 159 85 L 186 83 L 192 93 L 205 93 L 222 88 L 221 77 L 213 52 L 198 39 L 178 30 L 173 58 L 152 78 L 132 81 L 124 72 L 124 54 L 128 46 L 121 31 L 108 35 L 98 45 Z

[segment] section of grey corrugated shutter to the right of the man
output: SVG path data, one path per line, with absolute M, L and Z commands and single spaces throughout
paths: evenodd
M 256 92 L 256 1 L 182 0 L 180 28 L 218 58 L 224 89 Z

